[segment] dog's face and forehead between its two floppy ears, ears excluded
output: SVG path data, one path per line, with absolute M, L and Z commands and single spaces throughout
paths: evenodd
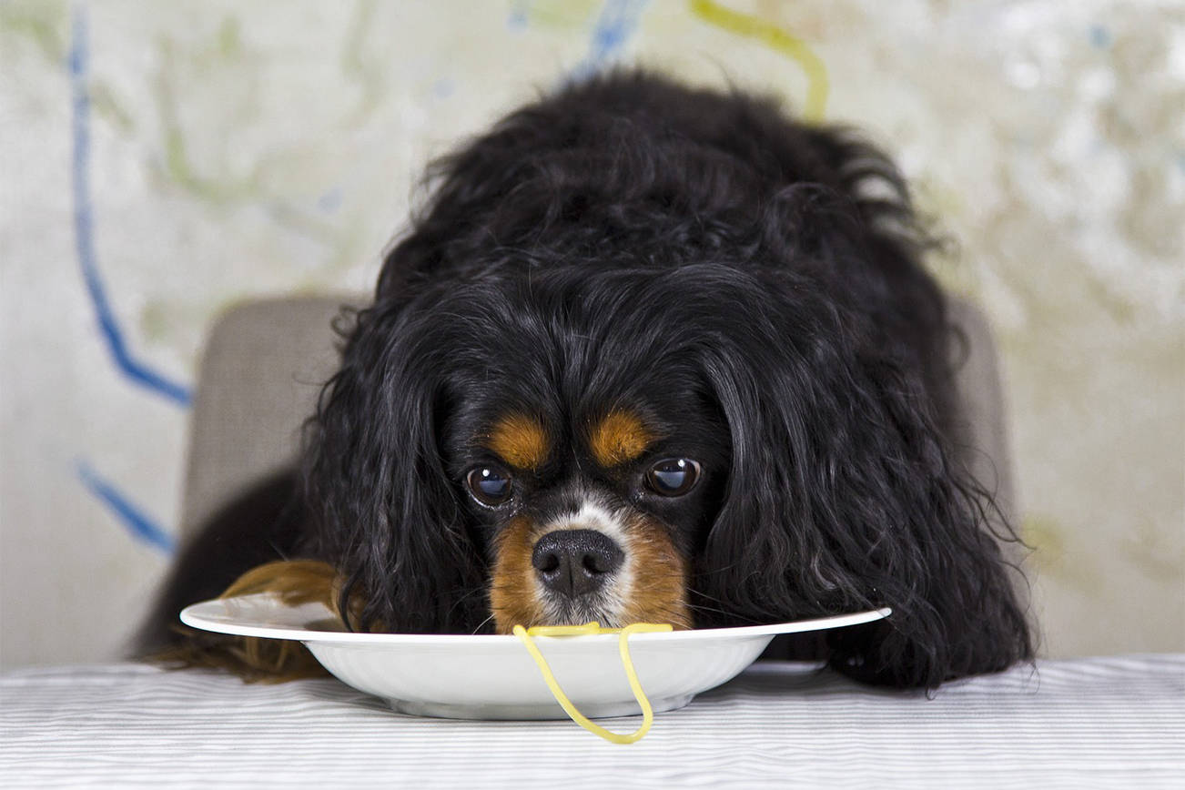
M 475 288 L 463 320 L 444 311 L 431 330 L 450 346 L 433 397 L 442 469 L 499 632 L 694 623 L 690 578 L 729 477 L 728 426 L 686 345 L 697 327 L 620 285 L 596 300 L 597 284 Z

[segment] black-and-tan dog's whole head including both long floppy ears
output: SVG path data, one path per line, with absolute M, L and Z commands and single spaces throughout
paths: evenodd
M 1005 628 L 998 550 L 922 383 L 860 358 L 866 325 L 720 264 L 524 270 L 361 313 L 310 476 L 322 550 L 367 602 L 353 625 L 890 605 L 880 673 Z

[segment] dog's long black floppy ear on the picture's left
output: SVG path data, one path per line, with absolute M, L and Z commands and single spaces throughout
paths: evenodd
M 450 631 L 485 616 L 437 445 L 448 367 L 430 315 L 393 301 L 357 314 L 306 438 L 314 552 L 346 577 L 341 611 L 351 595 L 366 600 L 357 630 Z

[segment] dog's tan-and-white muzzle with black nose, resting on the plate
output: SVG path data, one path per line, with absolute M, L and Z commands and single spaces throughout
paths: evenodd
M 500 535 L 489 587 L 495 630 L 514 625 L 606 628 L 668 623 L 691 628 L 686 563 L 666 528 L 585 507 L 536 526 L 515 519 Z

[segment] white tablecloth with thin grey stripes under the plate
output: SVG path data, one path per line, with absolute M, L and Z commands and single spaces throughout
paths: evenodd
M 1180 789 L 1185 655 L 1043 661 L 929 699 L 755 664 L 629 746 L 570 721 L 402 717 L 335 680 L 0 675 L 0 786 L 87 785 Z

